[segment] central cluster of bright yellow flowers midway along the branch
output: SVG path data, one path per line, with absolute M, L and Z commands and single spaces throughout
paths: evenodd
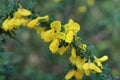
M 64 26 L 61 25 L 60 21 L 53 21 L 50 24 L 50 28 L 51 29 L 45 30 L 40 34 L 41 38 L 45 42 L 51 42 L 49 49 L 52 53 L 58 52 L 60 55 L 63 55 L 68 50 L 68 45 L 72 43 L 74 35 L 80 30 L 80 25 L 70 19 Z M 62 31 L 62 28 L 64 28 L 65 31 Z M 39 31 L 37 30 L 37 32 Z M 54 42 L 54 40 L 56 41 Z M 65 41 L 68 45 L 60 46 L 62 41 Z

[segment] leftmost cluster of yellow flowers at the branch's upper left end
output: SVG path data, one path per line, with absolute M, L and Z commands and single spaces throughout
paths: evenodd
M 44 22 L 49 20 L 48 16 L 37 17 L 36 19 L 26 18 L 31 14 L 31 11 L 24 9 L 22 8 L 22 6 L 20 6 L 20 8 L 14 13 L 14 16 L 12 18 L 9 17 L 3 21 L 2 29 L 4 31 L 12 31 L 13 29 L 17 29 L 20 26 L 35 28 L 39 24 L 39 21 Z

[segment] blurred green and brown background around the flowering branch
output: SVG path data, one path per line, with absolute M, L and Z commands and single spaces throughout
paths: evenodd
M 1 0 L 0 11 L 6 6 Z M 108 55 L 106 64 L 113 75 L 120 72 L 120 0 L 19 0 L 33 14 L 49 15 L 50 20 L 62 24 L 73 19 L 81 25 L 81 38 L 94 45 L 93 54 Z M 68 54 L 52 55 L 49 44 L 36 35 L 34 30 L 16 30 L 17 41 L 7 37 L 7 52 L 13 52 L 10 65 L 14 65 L 11 80 L 64 80 L 68 68 Z M 0 80 L 4 76 L 0 76 Z

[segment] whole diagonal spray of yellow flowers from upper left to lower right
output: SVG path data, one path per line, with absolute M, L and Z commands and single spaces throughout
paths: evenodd
M 87 0 L 88 5 L 92 5 L 94 0 Z M 90 3 L 90 1 L 92 1 Z M 83 7 L 81 11 L 85 11 Z M 4 31 L 12 31 L 20 26 L 25 26 L 30 29 L 35 29 L 36 33 L 44 40 L 44 42 L 49 42 L 49 49 L 52 53 L 59 53 L 63 55 L 66 51 L 71 49 L 71 56 L 69 61 L 72 64 L 72 68 L 66 74 L 65 79 L 69 80 L 74 77 L 77 80 L 81 80 L 85 75 L 89 76 L 91 72 L 101 73 L 103 66 L 102 62 L 108 59 L 107 56 L 97 58 L 94 56 L 94 60 L 91 61 L 91 56 L 88 55 L 87 45 L 80 42 L 77 37 L 77 32 L 80 30 L 80 25 L 74 22 L 72 19 L 68 23 L 62 25 L 60 21 L 53 21 L 48 26 L 40 26 L 40 22 L 45 22 L 49 20 L 48 16 L 37 17 L 35 19 L 29 19 L 31 11 L 20 8 L 14 13 L 13 17 L 5 19 L 2 23 L 2 29 Z M 87 57 L 86 57 L 87 55 Z M 74 66 L 74 67 L 73 67 Z

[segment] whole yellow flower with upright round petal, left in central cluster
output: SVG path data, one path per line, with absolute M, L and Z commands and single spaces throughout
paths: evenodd
M 65 33 L 60 32 L 61 30 L 61 23 L 60 21 L 54 21 L 50 24 L 51 29 L 43 32 L 41 34 L 42 39 L 44 39 L 45 42 L 52 41 L 53 39 L 65 39 Z M 49 39 L 50 38 L 50 39 Z

